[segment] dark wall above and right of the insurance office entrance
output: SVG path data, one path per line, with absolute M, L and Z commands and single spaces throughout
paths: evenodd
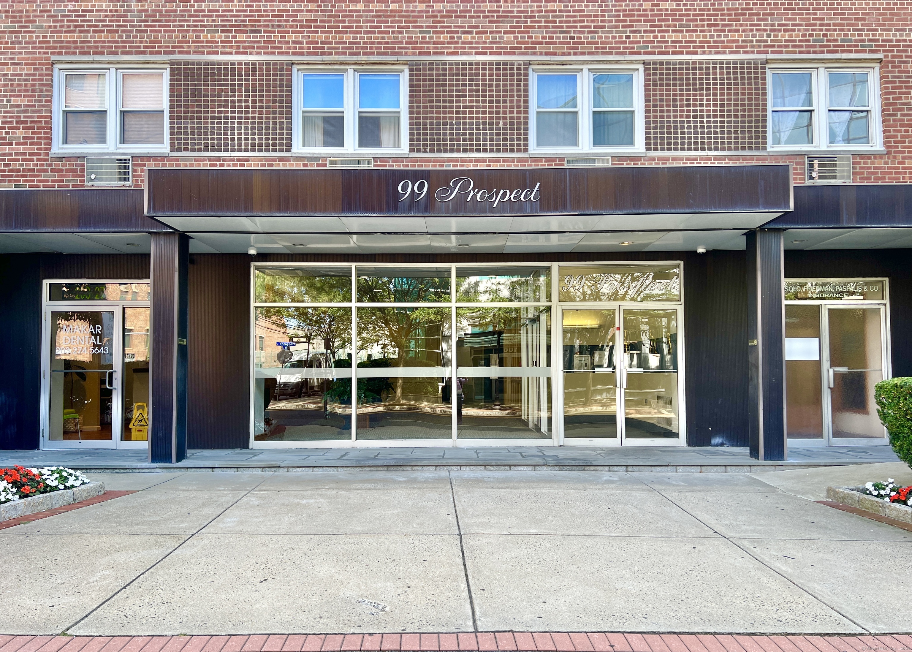
M 912 255 L 908 249 L 785 252 L 786 278 L 885 276 L 893 375 L 912 376 Z

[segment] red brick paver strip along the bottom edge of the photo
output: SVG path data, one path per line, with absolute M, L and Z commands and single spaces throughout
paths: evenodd
M 0 652 L 912 652 L 912 636 L 745 636 L 617 632 L 0 636 Z

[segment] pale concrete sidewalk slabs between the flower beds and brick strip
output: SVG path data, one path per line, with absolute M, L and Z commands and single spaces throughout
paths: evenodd
M 745 474 L 93 478 L 138 491 L 0 532 L 0 633 L 912 629 L 912 533 Z

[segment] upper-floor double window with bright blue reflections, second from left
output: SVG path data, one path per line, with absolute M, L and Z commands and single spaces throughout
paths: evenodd
M 295 150 L 405 150 L 404 70 L 298 69 Z

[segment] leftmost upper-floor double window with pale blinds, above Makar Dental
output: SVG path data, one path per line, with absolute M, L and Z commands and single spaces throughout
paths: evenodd
M 58 69 L 54 149 L 168 150 L 168 72 L 159 69 Z

